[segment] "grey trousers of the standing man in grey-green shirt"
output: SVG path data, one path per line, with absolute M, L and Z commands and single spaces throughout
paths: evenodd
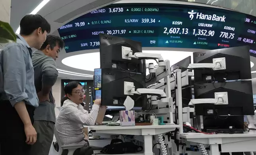
M 54 135 L 54 123 L 51 121 L 34 121 L 37 142 L 31 147 L 30 155 L 49 155 Z

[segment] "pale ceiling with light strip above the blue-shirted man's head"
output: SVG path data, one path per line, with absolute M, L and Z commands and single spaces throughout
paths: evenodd
M 43 0 L 12 0 L 10 24 L 14 31 L 21 18 L 31 13 Z M 38 14 L 47 19 L 51 32 L 60 26 L 97 8 L 102 8 L 119 0 L 50 0 Z M 64 16 L 64 17 L 63 17 Z M 61 22 L 57 22 L 61 21 Z

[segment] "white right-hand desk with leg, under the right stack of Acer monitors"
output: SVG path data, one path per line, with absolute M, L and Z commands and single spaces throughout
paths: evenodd
M 181 134 L 180 139 L 188 142 L 196 142 L 210 145 L 211 155 L 219 155 L 221 152 L 250 152 L 256 151 L 256 133 L 244 134 Z

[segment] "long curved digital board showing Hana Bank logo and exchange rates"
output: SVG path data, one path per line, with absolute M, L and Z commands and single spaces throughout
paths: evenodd
M 256 17 L 178 4 L 111 4 L 58 29 L 66 52 L 99 48 L 99 33 L 142 42 L 143 47 L 218 49 L 250 45 L 256 54 Z

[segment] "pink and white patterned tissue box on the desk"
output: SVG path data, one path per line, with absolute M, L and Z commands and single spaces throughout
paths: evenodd
M 120 126 L 135 126 L 134 110 L 122 110 L 120 114 Z

